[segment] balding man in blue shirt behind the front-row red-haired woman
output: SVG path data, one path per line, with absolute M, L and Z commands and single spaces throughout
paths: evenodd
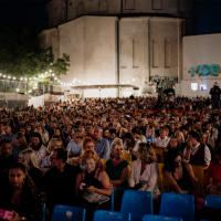
M 103 129 L 101 127 L 94 128 L 94 150 L 102 159 L 109 159 L 109 143 L 102 137 Z

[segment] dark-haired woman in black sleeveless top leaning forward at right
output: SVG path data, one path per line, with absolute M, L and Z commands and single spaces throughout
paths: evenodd
M 197 188 L 204 196 L 204 189 L 197 182 L 191 165 L 182 162 L 178 149 L 170 149 L 167 152 L 162 171 L 172 192 L 191 193 L 193 188 Z

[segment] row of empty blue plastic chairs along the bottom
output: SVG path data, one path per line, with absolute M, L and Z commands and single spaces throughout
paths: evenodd
M 221 209 L 221 197 L 207 196 L 206 207 Z M 52 221 L 85 221 L 86 210 L 69 206 L 55 206 Z M 148 214 L 148 215 L 147 215 Z M 152 193 L 126 190 L 120 212 L 96 211 L 94 221 L 194 221 L 194 198 L 191 194 L 165 192 L 159 215 L 154 214 Z

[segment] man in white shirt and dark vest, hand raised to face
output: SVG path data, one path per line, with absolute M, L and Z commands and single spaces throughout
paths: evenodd
M 211 152 L 203 137 L 207 137 L 207 135 L 199 135 L 194 130 L 188 134 L 187 147 L 183 150 L 183 161 L 202 166 L 203 169 L 207 169 L 211 161 Z M 198 141 L 199 138 L 201 143 Z

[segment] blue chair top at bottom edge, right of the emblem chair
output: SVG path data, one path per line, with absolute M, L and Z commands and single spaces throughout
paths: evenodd
M 113 212 L 106 210 L 97 210 L 94 213 L 94 221 L 130 221 L 130 214 L 122 212 Z

